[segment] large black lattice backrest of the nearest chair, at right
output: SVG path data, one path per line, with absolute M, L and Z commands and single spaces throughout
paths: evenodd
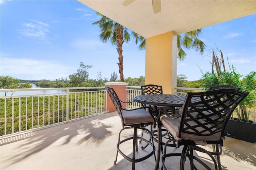
M 194 141 L 221 140 L 232 112 L 247 95 L 237 89 L 187 93 L 177 137 Z

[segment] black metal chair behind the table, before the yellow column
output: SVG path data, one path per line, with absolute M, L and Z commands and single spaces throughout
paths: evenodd
M 141 86 L 141 91 L 142 91 L 142 95 L 162 95 L 163 94 L 163 89 L 161 85 L 153 85 L 153 84 L 149 84 L 149 85 L 144 85 Z M 154 115 L 155 119 L 157 119 L 158 115 L 157 115 L 157 111 L 155 109 L 154 106 L 151 105 L 143 105 L 142 106 L 148 106 L 152 108 L 152 114 Z M 165 110 L 164 115 L 166 116 L 174 116 L 174 109 L 175 107 L 164 107 L 164 106 L 157 106 L 157 108 L 162 108 Z M 152 134 L 154 136 L 154 140 L 157 142 L 157 129 L 153 130 L 153 127 L 150 127 L 150 130 L 152 131 Z M 171 136 L 168 134 L 166 129 L 162 129 L 162 136 L 161 137 L 165 137 L 165 138 L 171 138 Z M 142 136 L 143 136 L 143 132 L 142 132 Z M 140 141 L 141 142 L 141 141 Z M 162 143 L 162 138 L 161 138 L 161 143 Z M 148 144 L 146 146 L 142 146 L 142 149 L 146 148 L 148 146 Z M 161 150 L 163 152 L 163 147 L 161 145 Z

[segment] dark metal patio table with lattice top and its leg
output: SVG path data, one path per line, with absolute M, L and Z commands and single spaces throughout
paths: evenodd
M 165 106 L 165 107 L 182 107 L 186 95 L 138 95 L 133 98 L 133 101 L 136 101 L 138 103 L 147 104 L 147 105 L 153 105 L 158 110 L 158 106 Z M 174 112 L 174 109 L 172 109 Z M 161 125 L 160 120 L 157 119 L 157 128 L 158 128 L 158 149 L 157 149 L 157 158 L 156 158 L 156 166 L 155 170 L 159 168 L 159 161 L 160 161 L 160 154 L 161 154 Z

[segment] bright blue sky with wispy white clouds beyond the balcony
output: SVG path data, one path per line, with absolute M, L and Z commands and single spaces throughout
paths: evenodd
M 76 73 L 79 63 L 93 67 L 89 77 L 118 75 L 118 53 L 102 43 L 96 12 L 76 0 L 1 0 L 0 75 L 18 79 L 55 80 Z M 211 71 L 212 50 L 222 50 L 241 75 L 256 71 L 256 14 L 202 28 L 204 55 L 186 50 L 177 62 L 177 74 L 198 80 Z M 219 56 L 220 53 L 217 53 Z M 131 40 L 123 44 L 124 78 L 145 75 L 145 51 Z M 228 56 L 228 61 L 227 61 Z

